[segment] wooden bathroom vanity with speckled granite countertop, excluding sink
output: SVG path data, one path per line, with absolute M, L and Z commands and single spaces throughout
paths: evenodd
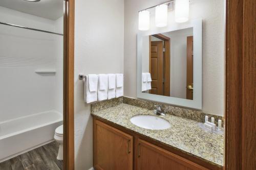
M 119 104 L 92 112 L 95 169 L 222 169 L 223 135 L 200 129 L 194 120 Z M 163 130 L 140 128 L 136 115 L 170 123 Z

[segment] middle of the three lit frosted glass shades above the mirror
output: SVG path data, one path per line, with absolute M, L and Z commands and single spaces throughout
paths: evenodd
M 156 6 L 156 16 L 155 16 L 156 27 L 167 26 L 167 10 L 168 10 L 168 6 L 166 4 Z

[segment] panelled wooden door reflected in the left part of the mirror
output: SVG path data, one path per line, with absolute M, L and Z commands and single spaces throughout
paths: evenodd
M 151 41 L 151 94 L 163 95 L 163 41 Z

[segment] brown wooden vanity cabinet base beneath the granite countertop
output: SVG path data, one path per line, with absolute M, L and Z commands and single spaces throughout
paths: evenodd
M 103 122 L 93 118 L 93 166 L 96 170 L 223 169 L 172 148 L 161 147 L 156 141 L 135 132 Z

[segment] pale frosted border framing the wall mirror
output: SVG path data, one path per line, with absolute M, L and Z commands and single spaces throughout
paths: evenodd
M 142 80 L 142 37 L 153 34 L 177 31 L 193 27 L 193 100 L 174 98 L 156 94 L 143 93 L 141 91 Z M 176 106 L 202 109 L 202 19 L 189 20 L 185 23 L 172 23 L 164 28 L 151 29 L 137 34 L 137 98 L 156 101 Z

